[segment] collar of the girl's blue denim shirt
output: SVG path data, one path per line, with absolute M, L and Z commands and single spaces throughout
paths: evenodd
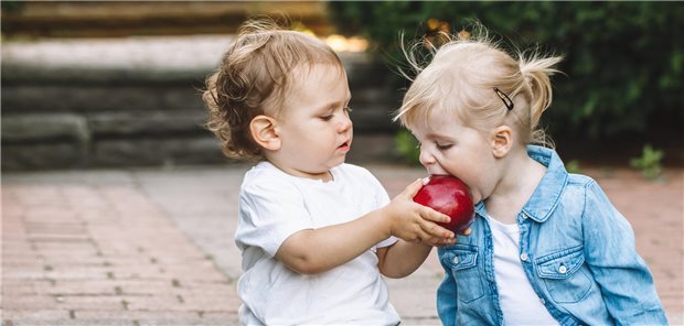
M 563 194 L 568 180 L 568 173 L 565 171 L 563 161 L 560 161 L 560 157 L 554 150 L 527 145 L 527 155 L 546 166 L 546 173 L 534 189 L 532 197 L 523 206 L 522 213 L 534 221 L 543 222 L 548 219 L 558 205 L 560 194 Z M 484 200 L 475 205 L 475 210 L 480 216 L 485 215 Z

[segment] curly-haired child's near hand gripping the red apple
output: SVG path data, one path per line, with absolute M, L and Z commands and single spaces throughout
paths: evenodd
M 406 241 L 423 242 L 428 246 L 455 243 L 456 236 L 453 232 L 436 224 L 448 222 L 450 217 L 414 203 L 413 198 L 420 187 L 423 187 L 421 180 L 415 181 L 383 208 L 391 219 L 391 235 Z

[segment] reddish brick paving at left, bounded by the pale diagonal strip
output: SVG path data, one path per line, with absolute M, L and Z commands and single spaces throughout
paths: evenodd
M 133 175 L 3 175 L 3 326 L 237 324 L 235 282 Z

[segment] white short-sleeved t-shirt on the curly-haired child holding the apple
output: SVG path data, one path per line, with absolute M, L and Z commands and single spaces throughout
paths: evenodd
M 313 275 L 293 272 L 274 258 L 297 231 L 351 221 L 389 202 L 367 170 L 342 164 L 330 172 L 333 180 L 322 182 L 261 162 L 246 173 L 235 232 L 243 254 L 244 273 L 237 283 L 242 325 L 399 323 L 375 253 L 396 238 Z

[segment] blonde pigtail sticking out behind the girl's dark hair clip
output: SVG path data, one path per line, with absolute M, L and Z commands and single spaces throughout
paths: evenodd
M 531 142 L 542 145 L 551 145 L 543 129 L 538 128 L 542 113 L 551 106 L 553 90 L 549 76 L 559 73 L 554 66 L 563 56 L 539 57 L 536 53 L 530 58 L 519 55 L 520 70 L 532 91 L 530 100 L 530 127 L 532 131 Z

